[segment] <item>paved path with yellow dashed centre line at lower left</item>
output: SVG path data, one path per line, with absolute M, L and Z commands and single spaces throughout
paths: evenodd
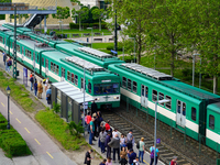
M 2 63 L 2 54 L 0 54 L 0 67 L 4 68 Z M 18 68 L 21 67 L 18 65 Z M 21 68 L 19 68 L 21 69 Z M 22 69 L 21 69 L 22 70 Z M 22 72 L 18 77 L 18 81 L 22 84 Z M 30 88 L 30 87 L 29 87 Z M 45 98 L 45 97 L 44 97 Z M 45 99 L 42 101 L 45 102 Z M 0 112 L 7 118 L 8 98 L 0 91 Z M 10 101 L 10 119 L 11 125 L 26 141 L 33 155 L 8 158 L 0 151 L 0 165 L 76 165 L 67 157 L 59 147 L 50 139 L 50 136 L 26 116 L 18 106 Z

